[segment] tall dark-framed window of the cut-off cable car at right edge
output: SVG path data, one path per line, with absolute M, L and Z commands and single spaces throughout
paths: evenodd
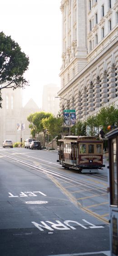
M 117 143 L 112 140 L 112 204 L 118 205 Z

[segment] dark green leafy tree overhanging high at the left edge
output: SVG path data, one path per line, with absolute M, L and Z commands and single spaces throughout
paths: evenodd
M 29 85 L 29 82 L 23 77 L 28 65 L 29 57 L 21 51 L 18 43 L 10 36 L 0 32 L 0 90 L 4 88 L 15 90 Z

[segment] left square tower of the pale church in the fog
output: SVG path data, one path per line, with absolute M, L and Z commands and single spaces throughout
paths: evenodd
M 21 122 L 22 90 L 2 89 L 2 109 L 0 109 L 0 144 L 4 140 L 20 141 L 17 124 Z

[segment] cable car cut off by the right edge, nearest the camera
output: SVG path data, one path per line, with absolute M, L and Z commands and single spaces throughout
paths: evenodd
M 110 249 L 118 255 L 118 128 L 108 132 L 109 192 L 110 192 Z

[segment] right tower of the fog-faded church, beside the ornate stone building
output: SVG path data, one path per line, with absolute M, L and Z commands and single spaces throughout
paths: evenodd
M 45 112 L 50 112 L 55 116 L 59 111 L 59 99 L 55 99 L 59 87 L 55 84 L 44 85 L 43 88 L 43 106 L 42 109 Z

